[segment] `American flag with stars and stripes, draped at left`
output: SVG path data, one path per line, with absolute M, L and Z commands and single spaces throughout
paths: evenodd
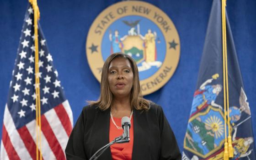
M 36 91 L 33 10 L 28 5 L 9 95 L 5 105 L 1 160 L 36 159 Z M 44 160 L 65 160 L 64 149 L 73 127 L 69 101 L 38 23 L 42 155 Z

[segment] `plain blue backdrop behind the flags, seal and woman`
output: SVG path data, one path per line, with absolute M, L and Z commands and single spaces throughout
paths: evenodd
M 96 16 L 119 0 L 38 0 L 40 24 L 76 122 L 86 100 L 96 100 L 100 84 L 87 63 L 87 32 Z M 160 104 L 180 149 L 187 129 L 212 0 L 146 0 L 174 22 L 181 57 L 175 74 L 145 98 Z M 0 0 L 0 133 L 12 69 L 28 0 Z M 227 12 L 252 113 L 256 137 L 256 1 L 227 0 Z M 1 134 L 0 134 L 1 136 Z

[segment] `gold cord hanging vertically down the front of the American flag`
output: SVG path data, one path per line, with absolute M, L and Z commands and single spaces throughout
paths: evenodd
M 42 136 L 41 136 L 41 104 L 40 104 L 40 81 L 39 81 L 39 66 L 38 66 L 38 24 L 40 17 L 37 0 L 29 0 L 34 11 L 34 37 L 35 37 L 35 88 L 36 88 L 36 134 L 37 134 L 37 160 L 40 157 L 42 160 Z M 39 126 L 39 128 L 37 127 Z M 38 153 L 39 152 L 39 153 Z

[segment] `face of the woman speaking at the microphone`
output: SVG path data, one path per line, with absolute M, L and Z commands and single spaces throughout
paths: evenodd
M 108 85 L 115 98 L 130 96 L 133 69 L 128 59 L 113 59 L 108 68 Z

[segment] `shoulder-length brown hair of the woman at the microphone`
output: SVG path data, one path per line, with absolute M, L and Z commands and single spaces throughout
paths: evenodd
M 108 84 L 108 68 L 113 59 L 128 59 L 133 70 L 133 87 L 131 89 L 130 103 L 131 107 L 137 110 L 148 110 L 149 101 L 144 99 L 139 85 L 139 70 L 132 57 L 124 53 L 113 53 L 105 61 L 101 73 L 101 95 L 97 101 L 88 101 L 91 105 L 98 106 L 102 111 L 107 110 L 112 104 L 113 94 Z

